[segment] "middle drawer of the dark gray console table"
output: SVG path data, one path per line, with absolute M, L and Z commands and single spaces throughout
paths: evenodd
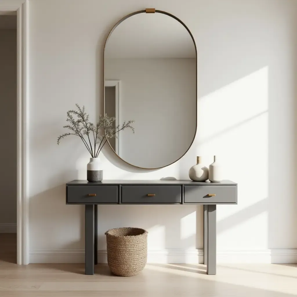
M 123 185 L 121 203 L 181 203 L 181 186 Z

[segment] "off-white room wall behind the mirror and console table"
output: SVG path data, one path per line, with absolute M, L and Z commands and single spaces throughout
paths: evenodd
M 296 5 L 151 0 L 149 7 L 176 15 L 195 38 L 197 137 L 180 161 L 160 170 L 128 167 L 109 148 L 101 156 L 105 179 L 182 179 L 197 155 L 206 164 L 220 155 L 225 177 L 238 182 L 238 205 L 217 208 L 217 249 L 228 260 L 263 261 L 269 249 L 297 248 Z M 120 18 L 146 6 L 143 0 L 30 1 L 31 261 L 84 248 L 84 209 L 65 205 L 65 183 L 86 178 L 89 156 L 76 138 L 57 146 L 56 137 L 76 102 L 92 119 L 102 113 L 105 38 Z M 99 249 L 104 232 L 121 226 L 148 229 L 150 251 L 202 247 L 200 206 L 99 206 Z

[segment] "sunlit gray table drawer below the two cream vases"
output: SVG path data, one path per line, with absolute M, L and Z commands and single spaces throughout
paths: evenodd
M 184 203 L 237 203 L 237 187 L 185 185 Z

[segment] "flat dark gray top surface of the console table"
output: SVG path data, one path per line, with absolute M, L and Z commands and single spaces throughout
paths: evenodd
M 228 180 L 224 180 L 218 183 L 212 183 L 210 181 L 191 181 L 191 180 L 166 180 L 166 179 L 162 179 L 162 180 L 123 180 L 123 179 L 110 179 L 110 180 L 103 180 L 100 182 L 89 182 L 87 180 L 81 180 L 81 179 L 76 179 L 73 181 L 68 182 L 66 185 L 110 185 L 110 184 L 148 184 L 148 185 L 166 185 L 166 184 L 173 184 L 173 185 L 237 185 L 235 182 L 233 181 L 228 181 Z

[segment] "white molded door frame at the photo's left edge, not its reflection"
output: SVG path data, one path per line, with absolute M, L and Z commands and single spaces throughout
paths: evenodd
M 9 4 L 7 4 L 9 3 Z M 29 0 L 0 2 L 0 15 L 17 15 L 17 263 L 29 264 L 28 101 Z

